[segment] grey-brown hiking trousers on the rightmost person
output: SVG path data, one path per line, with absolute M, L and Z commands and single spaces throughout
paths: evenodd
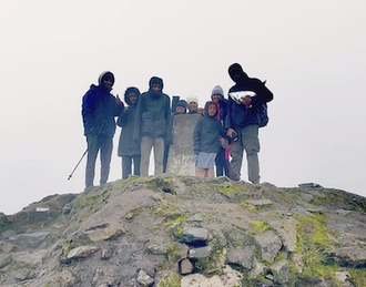
M 238 140 L 231 144 L 231 156 L 230 163 L 231 174 L 230 178 L 233 181 L 241 180 L 241 170 L 243 164 L 243 154 L 246 153 L 247 161 L 247 176 L 250 182 L 260 182 L 260 160 L 258 153 L 261 150 L 258 139 L 258 125 L 251 124 L 244 127 L 235 129 L 238 135 Z

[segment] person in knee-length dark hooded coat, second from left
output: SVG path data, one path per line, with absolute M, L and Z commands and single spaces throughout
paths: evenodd
M 140 176 L 140 142 L 132 139 L 139 98 L 140 91 L 138 88 L 128 88 L 124 92 L 124 102 L 128 106 L 116 120 L 118 126 L 122 127 L 118 151 L 119 156 L 122 157 L 122 178 L 128 178 L 130 174 Z

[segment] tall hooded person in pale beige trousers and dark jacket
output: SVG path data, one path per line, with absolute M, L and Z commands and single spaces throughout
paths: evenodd
M 163 173 L 165 144 L 171 144 L 171 100 L 163 93 L 163 80 L 152 76 L 149 91 L 138 102 L 134 141 L 141 142 L 141 176 L 149 175 L 150 154 L 154 147 L 154 175 Z

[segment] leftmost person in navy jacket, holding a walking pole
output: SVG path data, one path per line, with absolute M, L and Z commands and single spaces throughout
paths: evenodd
M 82 99 L 82 120 L 88 143 L 85 170 L 85 189 L 94 184 L 95 161 L 100 151 L 101 177 L 100 184 L 105 184 L 110 174 L 110 164 L 115 132 L 115 116 L 123 110 L 123 103 L 111 94 L 114 75 L 103 72 L 92 84 Z

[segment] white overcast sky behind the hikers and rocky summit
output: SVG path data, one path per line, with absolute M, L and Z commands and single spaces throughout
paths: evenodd
M 366 196 L 366 2 L 11 0 L 0 4 L 0 212 L 81 193 L 81 98 L 104 70 L 114 94 L 152 75 L 200 105 L 242 64 L 274 93 L 263 182 Z M 115 134 L 110 181 L 121 178 Z M 85 160 L 85 158 L 84 158 Z M 247 181 L 246 162 L 242 178 Z M 96 171 L 99 181 L 99 171 Z

